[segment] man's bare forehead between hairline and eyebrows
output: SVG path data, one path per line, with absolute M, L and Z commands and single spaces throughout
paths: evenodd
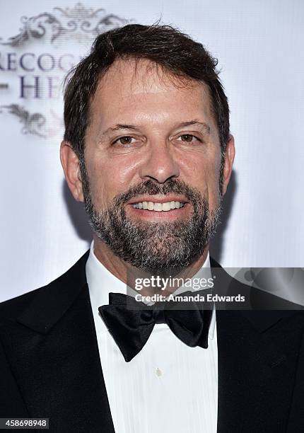
M 90 103 L 91 122 L 103 126 L 116 121 L 164 123 L 197 117 L 214 124 L 207 86 L 174 76 L 145 59 L 115 61 Z

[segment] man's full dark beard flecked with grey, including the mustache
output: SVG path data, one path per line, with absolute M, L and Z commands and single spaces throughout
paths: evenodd
M 81 164 L 83 196 L 90 226 L 95 235 L 120 259 L 148 272 L 177 273 L 191 265 L 203 253 L 214 236 L 221 215 L 221 195 L 218 207 L 210 211 L 209 202 L 197 189 L 181 180 L 169 179 L 160 184 L 153 180 L 132 187 L 117 195 L 107 209 L 96 209 L 84 163 Z M 193 212 L 183 221 L 134 221 L 124 204 L 139 195 L 185 195 Z

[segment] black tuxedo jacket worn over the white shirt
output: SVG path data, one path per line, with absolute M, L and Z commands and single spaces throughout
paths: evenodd
M 87 259 L 0 304 L 0 417 L 49 417 L 52 432 L 114 432 Z M 303 311 L 219 310 L 216 323 L 218 432 L 303 433 Z

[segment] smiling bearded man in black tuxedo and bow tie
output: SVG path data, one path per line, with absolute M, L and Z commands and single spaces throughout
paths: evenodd
M 235 149 L 215 67 L 169 26 L 127 25 L 74 70 L 61 161 L 93 244 L 1 305 L 1 417 L 49 417 L 54 432 L 303 431 L 302 313 L 125 303 L 136 272 L 218 267 L 209 241 Z

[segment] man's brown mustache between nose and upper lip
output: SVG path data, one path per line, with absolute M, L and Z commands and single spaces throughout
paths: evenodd
M 172 192 L 185 195 L 187 200 L 192 203 L 201 200 L 201 194 L 199 191 L 194 187 L 189 187 L 189 185 L 182 180 L 169 179 L 166 183 L 157 183 L 156 181 L 149 179 L 144 183 L 140 183 L 139 185 L 130 188 L 128 191 L 117 195 L 113 202 L 115 202 L 116 205 L 122 205 L 138 195 L 168 195 Z

